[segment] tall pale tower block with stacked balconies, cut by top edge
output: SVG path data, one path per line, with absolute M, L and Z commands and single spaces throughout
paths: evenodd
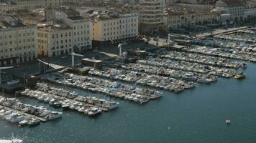
M 140 0 L 142 33 L 157 31 L 163 25 L 163 0 Z

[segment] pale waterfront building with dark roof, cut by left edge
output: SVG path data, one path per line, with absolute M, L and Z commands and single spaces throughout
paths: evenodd
M 37 27 L 26 26 L 11 14 L 0 16 L 0 65 L 37 58 Z

